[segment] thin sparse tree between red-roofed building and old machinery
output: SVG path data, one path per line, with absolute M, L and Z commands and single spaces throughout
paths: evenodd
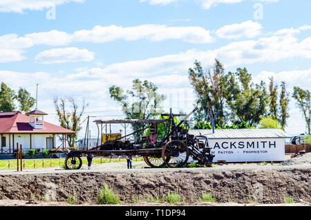
M 70 103 L 68 107 L 67 103 Z M 84 101 L 81 105 L 77 104 L 77 100 L 71 98 L 54 98 L 54 106 L 60 122 L 61 127 L 75 131 L 75 134 L 67 135 L 67 142 L 70 147 L 75 146 L 75 140 L 77 139 L 77 133 L 81 131 L 80 126 L 81 118 L 84 113 L 84 109 L 88 106 Z

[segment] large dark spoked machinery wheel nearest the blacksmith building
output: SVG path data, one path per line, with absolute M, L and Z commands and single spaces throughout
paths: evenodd
M 189 149 L 180 140 L 171 140 L 162 149 L 162 160 L 169 167 L 182 167 L 189 158 Z

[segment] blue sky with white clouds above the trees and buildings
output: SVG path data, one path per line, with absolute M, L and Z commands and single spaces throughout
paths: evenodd
M 2 0 L 0 82 L 33 96 L 38 83 L 39 109 L 54 123 L 56 95 L 86 100 L 86 116 L 122 118 L 109 86 L 137 77 L 167 95 L 164 109 L 191 111 L 195 59 L 246 67 L 255 82 L 274 76 L 290 92 L 311 89 L 310 8 L 306 0 Z M 304 133 L 294 100 L 290 115 L 286 131 Z

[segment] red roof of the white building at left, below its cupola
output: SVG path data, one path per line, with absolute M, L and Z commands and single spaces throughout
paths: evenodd
M 44 122 L 44 129 L 29 125 L 29 116 L 19 111 L 0 112 L 0 134 L 73 134 L 75 131 Z

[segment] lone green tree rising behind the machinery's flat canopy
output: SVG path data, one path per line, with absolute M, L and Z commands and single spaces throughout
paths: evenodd
M 133 80 L 131 89 L 124 91 L 119 86 L 109 88 L 111 98 L 117 101 L 126 119 L 151 119 L 157 118 L 162 113 L 162 102 L 165 95 L 158 93 L 158 87 L 144 80 Z M 135 130 L 142 129 L 144 125 L 132 125 Z M 142 132 L 140 133 L 142 134 Z

